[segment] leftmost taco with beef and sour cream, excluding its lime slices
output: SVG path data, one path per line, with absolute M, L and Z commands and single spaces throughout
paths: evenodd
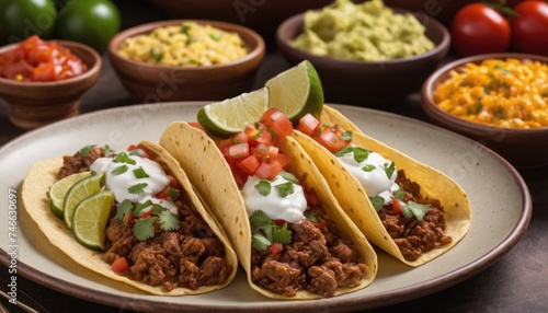
M 49 188 L 62 177 L 85 172 L 104 172 L 104 188 L 115 197 L 103 251 L 80 244 L 50 210 Z M 141 190 L 129 192 L 134 186 Z M 24 178 L 22 199 L 41 231 L 68 257 L 148 293 L 214 291 L 226 287 L 238 269 L 226 233 L 199 201 L 185 172 L 150 141 L 121 153 L 89 146 L 73 155 L 38 161 Z

